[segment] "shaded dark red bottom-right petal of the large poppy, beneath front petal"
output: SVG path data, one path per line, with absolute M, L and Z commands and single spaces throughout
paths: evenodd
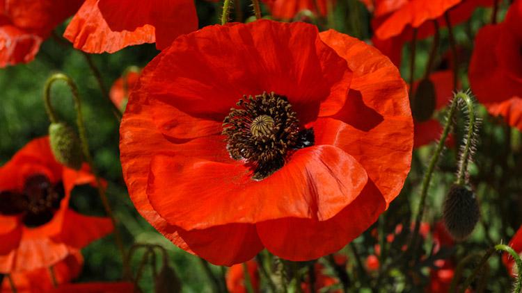
M 313 260 L 342 249 L 361 235 L 386 208 L 386 201 L 372 181 L 361 194 L 326 221 L 285 218 L 256 224 L 265 247 L 286 260 Z

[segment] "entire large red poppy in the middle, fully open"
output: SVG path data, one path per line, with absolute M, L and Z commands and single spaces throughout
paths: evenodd
M 413 146 L 406 85 L 388 58 L 335 31 L 267 20 L 175 40 L 143 69 L 120 134 L 141 215 L 219 265 L 263 247 L 289 260 L 338 251 L 395 199 Z

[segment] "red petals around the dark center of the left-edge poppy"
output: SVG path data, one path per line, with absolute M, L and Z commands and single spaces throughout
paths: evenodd
M 0 167 L 0 191 L 21 191 L 27 178 L 43 175 L 52 184 L 62 184 L 65 197 L 52 219 L 41 226 L 26 226 L 18 215 L 0 214 L 0 273 L 32 271 L 56 262 L 110 233 L 110 219 L 80 215 L 68 208 L 75 185 L 93 184 L 87 165 L 75 171 L 54 159 L 47 137 L 26 144 Z

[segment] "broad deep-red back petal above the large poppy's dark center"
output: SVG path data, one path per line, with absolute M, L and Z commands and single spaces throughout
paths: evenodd
M 153 76 L 143 78 L 143 92 L 216 122 L 222 122 L 244 94 L 276 92 L 289 99 L 306 124 L 326 100 L 331 101 L 323 111 L 336 112 L 350 82 L 345 60 L 319 40 L 317 27 L 303 23 L 260 20 L 207 26 L 178 37 L 160 56 Z M 338 83 L 345 91 L 331 92 Z

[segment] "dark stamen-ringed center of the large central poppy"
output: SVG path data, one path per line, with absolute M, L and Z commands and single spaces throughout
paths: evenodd
M 227 149 L 235 160 L 245 160 L 254 180 L 267 178 L 285 165 L 292 150 L 314 144 L 313 129 L 300 129 L 287 98 L 264 92 L 240 99 L 223 120 Z

